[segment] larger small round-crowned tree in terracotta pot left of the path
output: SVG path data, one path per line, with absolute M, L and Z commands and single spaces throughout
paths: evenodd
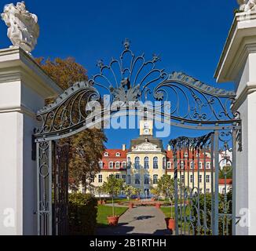
M 109 176 L 107 182 L 103 184 L 104 192 L 112 197 L 112 214 L 115 216 L 114 198 L 123 190 L 123 180 L 116 179 L 115 176 Z

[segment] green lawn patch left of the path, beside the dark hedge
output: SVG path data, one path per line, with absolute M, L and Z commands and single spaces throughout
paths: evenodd
M 126 207 L 115 207 L 115 215 L 121 216 L 126 212 Z M 107 216 L 112 215 L 112 206 L 98 205 L 97 224 L 100 227 L 108 226 Z

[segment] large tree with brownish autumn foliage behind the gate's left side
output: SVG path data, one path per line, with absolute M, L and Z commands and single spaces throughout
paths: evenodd
M 36 59 L 46 74 L 62 89 L 68 89 L 75 82 L 88 80 L 87 71 L 75 62 L 74 58 L 56 58 L 54 60 Z M 46 104 L 53 100 L 46 100 Z M 79 113 L 77 113 L 79 114 Z M 60 144 L 70 144 L 69 176 L 70 187 L 79 189 L 79 184 L 87 190 L 96 173 L 100 171 L 98 161 L 105 151 L 104 143 L 107 141 L 102 129 L 85 129 L 68 139 L 60 140 Z

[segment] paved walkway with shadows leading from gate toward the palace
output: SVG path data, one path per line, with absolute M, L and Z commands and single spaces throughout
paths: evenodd
M 152 206 L 128 209 L 117 227 L 98 228 L 97 235 L 170 235 L 164 218 L 163 212 Z

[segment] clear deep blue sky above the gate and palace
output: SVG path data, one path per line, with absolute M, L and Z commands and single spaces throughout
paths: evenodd
M 0 0 L 0 9 L 9 2 Z M 160 67 L 166 71 L 184 71 L 210 85 L 215 85 L 214 71 L 237 7 L 236 0 L 25 2 L 39 19 L 35 57 L 73 56 L 91 76 L 98 72 L 97 60 L 108 62 L 119 56 L 122 41 L 130 38 L 135 53 L 144 52 L 148 57 L 160 53 Z M 0 48 L 9 45 L 1 21 Z M 218 86 L 232 89 L 232 84 Z M 185 133 L 174 130 L 170 137 L 180 134 Z M 107 136 L 107 146 L 116 148 L 129 144 L 137 130 L 109 130 Z

